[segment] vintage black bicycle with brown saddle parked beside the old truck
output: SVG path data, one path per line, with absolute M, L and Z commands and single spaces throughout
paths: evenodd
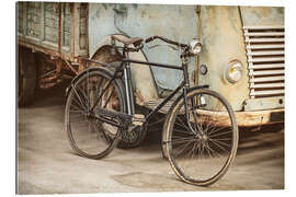
M 89 159 L 106 157 L 118 141 L 133 130 L 141 132 L 147 123 L 177 96 L 163 125 L 162 152 L 182 181 L 205 186 L 217 182 L 229 169 L 238 148 L 238 126 L 230 104 L 208 85 L 190 86 L 189 58 L 200 54 L 197 39 L 182 44 L 163 36 L 151 36 L 181 51 L 181 66 L 129 59 L 139 51 L 144 39 L 112 36 L 112 51 L 122 51 L 123 59 L 98 63 L 77 76 L 67 89 L 65 125 L 72 149 Z M 124 46 L 117 46 L 116 42 Z M 133 47 L 130 47 L 133 46 Z M 175 69 L 183 72 L 182 83 L 148 115 L 135 113 L 130 63 Z M 210 161 L 210 163 L 208 163 Z M 212 169 L 213 167 L 213 169 Z

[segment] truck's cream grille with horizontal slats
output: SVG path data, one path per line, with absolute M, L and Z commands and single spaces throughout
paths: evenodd
M 250 97 L 284 95 L 284 26 L 243 26 Z

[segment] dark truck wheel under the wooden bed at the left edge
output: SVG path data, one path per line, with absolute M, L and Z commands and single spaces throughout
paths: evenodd
M 36 88 L 36 63 L 35 56 L 27 48 L 19 47 L 19 106 L 32 102 Z

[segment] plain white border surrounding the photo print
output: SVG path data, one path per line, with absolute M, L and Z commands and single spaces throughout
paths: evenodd
M 67 0 L 66 0 L 67 1 Z M 76 0 L 71 0 L 76 1 Z M 197 192 L 197 193 L 141 193 L 141 194 L 94 194 L 88 196 L 293 196 L 296 192 L 295 176 L 295 143 L 296 130 L 295 123 L 296 97 L 296 63 L 294 57 L 295 51 L 295 3 L 292 0 L 182 0 L 182 1 L 160 1 L 160 0 L 104 0 L 104 1 L 87 1 L 87 2 L 124 2 L 124 3 L 168 3 L 168 4 L 223 4 L 223 5 L 272 5 L 285 7 L 285 30 L 286 30 L 286 127 L 285 127 L 285 187 L 284 190 L 251 190 L 251 192 Z M 15 194 L 15 1 L 2 1 L 0 7 L 1 14 L 1 167 L 0 167 L 0 194 L 1 196 L 14 196 Z M 242 177 L 243 178 L 243 177 Z M 25 195 L 33 196 L 33 195 Z M 41 196 L 41 195 L 34 195 Z M 54 196 L 54 195 L 47 195 Z M 86 196 L 86 195 L 64 195 L 64 196 Z

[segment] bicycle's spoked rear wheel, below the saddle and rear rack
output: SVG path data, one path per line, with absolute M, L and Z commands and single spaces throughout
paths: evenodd
M 88 71 L 71 85 L 67 97 L 65 123 L 68 139 L 78 154 L 89 159 L 107 155 L 121 135 L 119 128 L 90 116 L 90 108 L 101 94 L 94 114 L 99 107 L 124 112 L 122 85 L 116 80 L 110 81 L 111 76 L 103 69 Z

